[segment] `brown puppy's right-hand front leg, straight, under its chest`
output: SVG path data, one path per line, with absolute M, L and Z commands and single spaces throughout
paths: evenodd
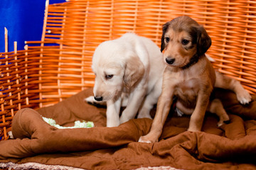
M 188 131 L 197 132 L 201 131 L 203 125 L 203 118 L 206 114 L 206 109 L 209 103 L 211 89 L 200 90 L 196 101 L 196 108 L 191 115 L 189 121 Z

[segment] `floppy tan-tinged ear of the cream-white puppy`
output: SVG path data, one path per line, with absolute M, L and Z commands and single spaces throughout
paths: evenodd
M 128 88 L 134 86 L 144 75 L 144 65 L 139 57 L 129 57 L 124 68 L 124 85 Z

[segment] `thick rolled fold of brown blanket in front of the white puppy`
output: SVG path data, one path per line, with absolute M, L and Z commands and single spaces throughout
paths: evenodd
M 16 120 L 17 118 L 18 120 Z M 139 140 L 143 128 L 147 128 L 144 130 L 145 132 L 149 131 L 150 123 L 147 122 L 148 120 L 145 119 L 137 119 L 114 128 L 97 127 L 63 130 L 48 125 L 38 112 L 26 108 L 16 113 L 13 133 L 14 137 L 20 139 L 28 137 L 26 132 L 31 135 L 31 140 L 25 138 L 26 140 L 20 142 L 23 148 L 23 156 L 18 154 L 18 157 L 27 157 L 31 154 L 75 152 L 126 145 L 129 142 Z M 145 123 L 148 125 L 144 125 Z M 23 134 L 25 136 L 22 136 Z M 92 139 L 92 135 L 95 138 Z M 11 142 L 15 142 L 15 140 Z M 5 152 L 9 152 L 9 150 Z M 11 154 L 9 154 L 9 157 L 11 157 Z

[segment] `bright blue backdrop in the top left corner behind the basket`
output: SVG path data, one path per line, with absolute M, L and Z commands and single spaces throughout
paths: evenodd
M 65 0 L 50 0 L 50 4 Z M 8 50 L 24 49 L 24 41 L 41 40 L 46 0 L 0 0 L 0 52 L 4 52 L 4 27 L 8 29 Z

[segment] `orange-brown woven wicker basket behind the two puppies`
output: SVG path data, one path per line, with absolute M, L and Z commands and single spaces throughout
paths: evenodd
M 21 108 L 53 105 L 92 87 L 92 54 L 101 42 L 135 32 L 160 46 L 161 26 L 182 15 L 205 26 L 215 68 L 256 94 L 255 1 L 72 0 L 46 5 L 41 41 L 0 53 L 1 140 L 9 139 Z

